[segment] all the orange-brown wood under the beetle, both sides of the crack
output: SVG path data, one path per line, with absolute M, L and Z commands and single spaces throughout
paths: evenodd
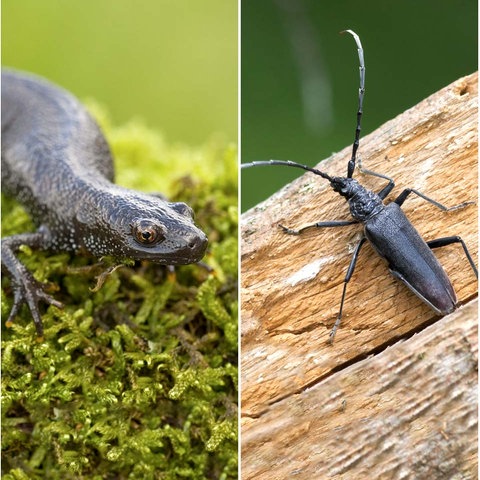
M 364 167 L 395 179 L 390 200 L 409 187 L 447 206 L 477 201 L 477 93 L 477 74 L 461 78 L 361 139 L 359 155 Z M 319 168 L 329 175 L 344 176 L 350 154 L 351 147 L 347 147 Z M 358 171 L 354 176 L 375 191 L 385 185 Z M 445 213 L 411 195 L 402 208 L 426 240 L 460 235 L 477 263 L 476 205 Z M 461 328 L 453 328 L 445 338 L 441 332 L 437 341 L 424 337 L 427 325 L 436 328 L 443 320 L 394 279 L 385 262 L 365 246 L 347 289 L 335 342 L 327 342 L 361 227 L 310 229 L 300 236 L 289 236 L 278 224 L 298 228 L 321 220 L 350 218 L 348 205 L 328 182 L 308 173 L 242 217 L 242 478 L 427 478 L 415 475 L 413 469 L 417 465 L 413 456 L 423 448 L 421 442 L 425 448 L 436 445 L 441 450 L 430 457 L 422 450 L 421 461 L 430 462 L 430 470 L 425 470 L 430 478 L 457 478 L 450 475 L 454 470 L 448 470 L 446 476 L 432 474 L 432 463 L 441 469 L 438 462 L 448 463 L 448 459 L 448 465 L 452 459 L 456 462 L 457 474 L 463 472 L 458 478 L 476 478 L 469 476 L 476 475 L 475 454 L 455 436 L 463 428 L 472 437 L 471 422 L 476 421 L 472 415 L 462 417 L 459 413 L 465 411 L 466 401 L 473 402 L 476 411 L 475 394 L 466 393 L 471 386 L 467 373 L 451 387 L 463 393 L 445 397 L 445 410 L 437 410 L 433 407 L 445 391 L 435 393 L 438 377 L 433 366 L 416 374 L 413 360 L 406 370 L 399 369 L 384 355 L 389 350 L 383 352 L 399 339 L 406 339 L 398 346 L 411 348 L 412 359 L 415 352 L 430 360 L 438 355 L 438 365 L 433 364 L 441 371 L 442 353 L 435 353 L 439 348 L 447 358 L 467 337 L 469 345 L 476 345 L 476 336 L 463 330 L 467 327 L 462 320 L 457 320 Z M 436 249 L 435 254 L 460 304 L 475 298 L 477 281 L 461 246 Z M 468 328 L 475 329 L 476 313 L 471 309 L 463 311 L 474 318 Z M 452 315 L 462 318 L 464 313 L 459 310 Z M 415 332 L 419 333 L 413 335 Z M 373 354 L 379 354 L 377 367 L 363 360 Z M 464 365 L 472 369 L 475 382 L 476 364 Z M 369 390 L 364 382 L 371 384 L 373 380 L 376 384 Z M 408 382 L 414 382 L 417 389 L 411 397 Z M 406 390 L 397 391 L 396 383 Z M 335 388 L 338 395 L 332 393 Z M 357 390 L 359 395 L 355 395 Z M 415 404 L 418 391 L 429 408 L 423 408 L 418 398 Z M 382 392 L 390 392 L 388 402 Z M 338 400 L 336 408 L 331 406 L 332 399 Z M 311 409 L 305 410 L 308 401 Z M 392 419 L 396 426 L 392 423 L 388 430 L 383 426 L 392 408 L 403 413 Z M 407 411 L 410 414 L 405 414 Z M 428 423 L 437 414 L 441 415 L 436 419 L 438 425 L 445 422 L 455 435 Z M 325 415 L 341 421 L 325 419 Z M 426 423 L 414 425 L 414 418 Z M 333 430 L 321 434 L 318 428 L 324 427 L 312 428 L 313 420 Z M 416 433 L 420 443 L 410 444 L 410 428 L 423 428 Z M 398 434 L 391 441 L 400 445 L 389 443 L 387 430 Z M 335 444 L 335 435 L 335 441 L 345 439 L 345 443 Z M 472 438 L 475 443 L 476 435 Z M 367 454 L 373 451 L 380 457 Z M 404 458 L 395 463 L 392 455 Z M 381 475 L 362 476 L 378 462 L 383 465 L 379 467 L 383 470 L 378 470 Z M 296 467 L 290 468 L 292 465 Z

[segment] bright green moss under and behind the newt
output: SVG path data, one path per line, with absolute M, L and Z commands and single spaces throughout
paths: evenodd
M 41 341 L 26 308 L 2 326 L 3 478 L 236 478 L 236 150 L 218 139 L 172 146 L 139 121 L 114 128 L 91 108 L 118 183 L 191 205 L 213 271 L 123 266 L 95 290 L 108 263 L 23 249 L 65 308 L 45 309 Z M 4 236 L 33 229 L 11 199 L 2 227 Z M 8 279 L 2 289 L 6 318 Z

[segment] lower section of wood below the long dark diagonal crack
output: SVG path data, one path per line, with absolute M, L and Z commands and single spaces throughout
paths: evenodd
M 477 307 L 246 419 L 242 479 L 476 479 Z

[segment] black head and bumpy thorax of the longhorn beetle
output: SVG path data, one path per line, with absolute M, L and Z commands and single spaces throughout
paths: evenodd
M 347 199 L 352 217 L 359 222 L 367 221 L 385 208 L 382 199 L 375 192 L 360 185 L 354 178 L 333 177 L 330 184 L 337 193 Z

